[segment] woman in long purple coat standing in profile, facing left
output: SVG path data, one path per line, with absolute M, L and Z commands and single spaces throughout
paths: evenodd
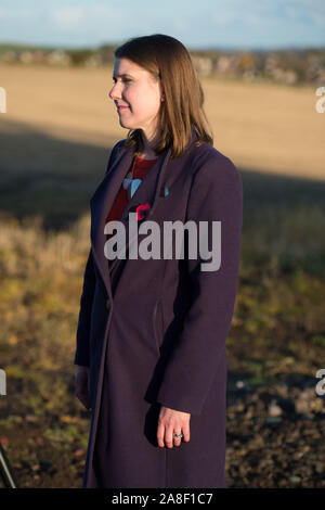
M 113 80 L 109 97 L 130 131 L 113 148 L 90 202 L 75 357 L 76 395 L 92 411 L 83 487 L 225 487 L 225 340 L 237 291 L 242 179 L 212 146 L 203 90 L 180 41 L 127 41 L 115 52 Z M 108 226 L 117 219 L 126 227 L 117 252 L 126 256 L 114 259 Z M 186 228 L 179 238 L 164 234 L 174 221 L 196 232 L 205 222 L 208 237 Z M 211 250 L 217 221 L 221 243 Z M 146 222 L 155 256 L 129 256 L 134 225 L 142 242 Z M 183 258 L 173 247 L 172 256 L 157 256 L 180 232 Z M 204 270 L 218 250 L 221 265 Z

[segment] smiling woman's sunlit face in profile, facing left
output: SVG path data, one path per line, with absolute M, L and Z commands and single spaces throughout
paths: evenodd
M 161 104 L 161 82 L 128 59 L 116 59 L 113 72 L 115 85 L 109 91 L 118 111 L 121 127 L 142 129 L 150 139 L 156 133 Z

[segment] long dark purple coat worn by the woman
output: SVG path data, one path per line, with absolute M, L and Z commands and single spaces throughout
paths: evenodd
M 125 140 L 90 201 L 74 361 L 90 367 L 87 488 L 226 487 L 225 341 L 238 284 L 243 186 L 232 161 L 207 143 L 195 146 L 196 139 L 192 129 L 181 157 L 165 150 L 120 220 L 128 226 L 129 212 L 150 203 L 138 225 L 155 220 L 161 232 L 166 220 L 221 221 L 218 270 L 202 271 L 199 252 L 196 259 L 129 259 L 128 252 L 125 260 L 106 258 L 105 219 L 133 156 Z M 190 443 L 159 448 L 160 405 L 191 412 Z

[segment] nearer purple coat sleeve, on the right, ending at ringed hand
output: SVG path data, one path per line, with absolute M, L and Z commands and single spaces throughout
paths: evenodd
M 191 306 L 166 362 L 157 401 L 171 409 L 200 415 L 219 362 L 225 356 L 238 285 L 243 226 L 242 177 L 224 155 L 209 158 L 196 173 L 190 191 L 186 220 L 221 221 L 221 266 L 202 270 L 197 257 L 185 257 L 192 286 Z M 219 243 L 220 245 L 220 243 Z M 223 358 L 224 359 L 224 358 Z

